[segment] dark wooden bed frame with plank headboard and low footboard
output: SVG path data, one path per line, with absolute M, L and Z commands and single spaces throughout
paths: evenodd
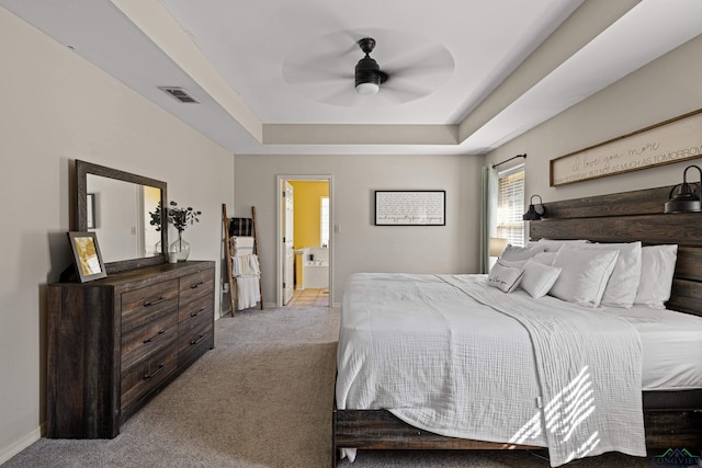
M 678 244 L 667 307 L 702 317 L 702 213 L 664 214 L 670 186 L 544 204 L 530 238 L 642 241 Z M 702 390 L 645 391 L 644 424 L 650 448 L 702 448 Z M 332 466 L 340 448 L 510 449 L 543 448 L 445 437 L 414 427 L 386 410 L 339 410 L 332 418 Z

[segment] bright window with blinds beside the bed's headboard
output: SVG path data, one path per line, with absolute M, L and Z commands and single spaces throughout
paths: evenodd
M 497 182 L 497 237 L 524 244 L 524 167 L 505 171 Z

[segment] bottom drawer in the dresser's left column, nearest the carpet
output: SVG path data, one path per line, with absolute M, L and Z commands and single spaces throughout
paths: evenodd
M 122 373 L 121 402 L 123 418 L 131 414 L 139 400 L 156 390 L 174 370 L 178 344 L 176 341 L 157 354 Z

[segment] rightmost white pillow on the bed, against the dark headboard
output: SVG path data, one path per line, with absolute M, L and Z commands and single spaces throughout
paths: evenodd
M 670 299 L 678 246 L 646 246 L 642 249 L 642 270 L 634 304 L 665 309 Z

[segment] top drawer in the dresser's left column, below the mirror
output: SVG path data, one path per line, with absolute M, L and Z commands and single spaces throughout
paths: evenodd
M 178 279 L 122 294 L 122 333 L 178 308 Z

